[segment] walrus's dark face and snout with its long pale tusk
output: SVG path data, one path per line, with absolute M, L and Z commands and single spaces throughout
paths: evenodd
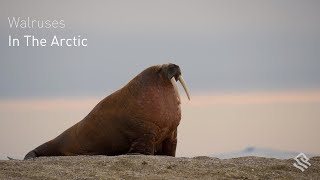
M 170 81 L 172 80 L 172 78 L 174 78 L 176 81 L 179 81 L 181 83 L 181 85 L 182 85 L 184 91 L 186 92 L 188 99 L 190 101 L 189 90 L 187 88 L 187 85 L 186 85 L 184 79 L 182 78 L 180 67 L 176 64 L 169 63 L 169 64 L 163 65 L 163 70 L 164 70 L 166 77 Z

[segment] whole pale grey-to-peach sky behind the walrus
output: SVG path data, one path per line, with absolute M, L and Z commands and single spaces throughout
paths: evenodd
M 0 2 L 0 156 L 22 157 L 148 66 L 180 65 L 178 155 L 246 146 L 320 154 L 320 1 Z M 64 20 L 10 29 L 8 17 Z M 88 47 L 8 47 L 81 35 Z M 183 98 L 184 94 L 181 92 Z

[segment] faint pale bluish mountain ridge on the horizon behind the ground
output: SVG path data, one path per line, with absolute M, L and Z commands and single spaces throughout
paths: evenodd
M 294 151 L 280 151 L 269 148 L 258 148 L 258 147 L 246 147 L 240 151 L 226 152 L 226 153 L 217 153 L 210 155 L 211 157 L 217 157 L 220 159 L 230 159 L 238 158 L 245 156 L 257 156 L 257 157 L 266 157 L 266 158 L 276 158 L 276 159 L 291 159 L 296 157 L 300 152 Z M 315 156 L 314 154 L 305 153 L 308 158 Z

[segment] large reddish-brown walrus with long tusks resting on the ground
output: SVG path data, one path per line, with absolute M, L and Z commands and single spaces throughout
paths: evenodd
M 75 155 L 175 156 L 181 100 L 190 95 L 175 64 L 151 66 L 100 101 L 80 122 L 30 151 L 24 159 Z

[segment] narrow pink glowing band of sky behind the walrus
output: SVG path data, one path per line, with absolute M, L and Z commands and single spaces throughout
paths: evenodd
M 250 105 L 273 103 L 318 103 L 320 90 L 317 91 L 280 91 L 280 92 L 251 92 L 230 94 L 197 94 L 191 95 L 189 101 L 183 92 L 180 92 L 182 104 L 191 107 L 211 105 Z M 104 97 L 58 97 L 36 99 L 0 100 L 0 108 L 8 110 L 33 109 L 86 109 L 93 108 Z

